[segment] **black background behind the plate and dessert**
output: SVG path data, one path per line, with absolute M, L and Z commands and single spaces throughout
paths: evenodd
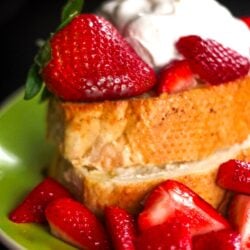
M 84 11 L 93 11 L 101 2 L 85 0 Z M 220 2 L 236 16 L 250 16 L 250 0 Z M 37 50 L 35 41 L 47 38 L 55 30 L 64 3 L 65 0 L 0 0 L 0 102 L 24 84 Z

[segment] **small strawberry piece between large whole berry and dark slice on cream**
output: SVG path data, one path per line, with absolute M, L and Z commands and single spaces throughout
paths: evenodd
M 166 65 L 159 74 L 159 94 L 176 93 L 197 85 L 187 60 L 173 61 Z

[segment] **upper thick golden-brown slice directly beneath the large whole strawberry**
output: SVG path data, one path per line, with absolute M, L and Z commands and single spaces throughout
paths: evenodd
M 48 112 L 48 136 L 63 158 L 76 168 L 141 169 L 199 161 L 241 143 L 250 134 L 249 110 L 249 77 L 159 97 L 100 103 L 53 99 Z M 93 186 L 89 196 L 99 192 L 95 190 L 100 185 L 94 185 L 98 178 L 85 181 L 92 183 L 87 186 Z M 152 183 L 156 182 L 153 178 Z M 144 193 L 144 181 L 135 185 L 140 189 L 138 193 Z M 121 185 L 118 187 L 112 192 L 121 192 Z

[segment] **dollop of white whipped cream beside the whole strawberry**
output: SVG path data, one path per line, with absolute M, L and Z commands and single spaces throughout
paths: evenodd
M 112 0 L 100 14 L 155 69 L 180 57 L 175 42 L 187 35 L 214 39 L 250 57 L 248 27 L 215 0 Z

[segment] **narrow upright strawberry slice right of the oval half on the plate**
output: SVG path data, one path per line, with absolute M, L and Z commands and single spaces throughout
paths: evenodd
M 132 216 L 119 207 L 107 207 L 105 218 L 114 249 L 134 250 L 136 231 Z

